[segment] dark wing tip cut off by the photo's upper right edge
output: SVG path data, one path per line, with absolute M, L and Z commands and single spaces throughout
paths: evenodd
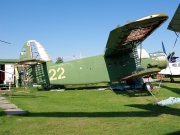
M 175 31 L 175 32 L 180 32 L 180 4 L 179 4 L 171 22 L 168 25 L 168 29 Z

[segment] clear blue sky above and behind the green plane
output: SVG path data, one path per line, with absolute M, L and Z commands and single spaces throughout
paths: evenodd
M 165 13 L 169 19 L 143 43 L 149 53 L 175 51 L 180 57 L 180 38 L 167 30 L 179 0 L 0 0 L 0 58 L 19 58 L 28 40 L 39 41 L 53 61 L 104 53 L 109 32 L 117 24 Z M 177 59 L 180 61 L 180 58 Z

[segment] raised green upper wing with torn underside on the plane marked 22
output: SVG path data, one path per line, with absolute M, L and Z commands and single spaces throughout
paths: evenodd
M 138 46 L 167 19 L 166 14 L 154 14 L 112 30 L 106 44 L 105 56 L 128 51 L 132 44 Z

